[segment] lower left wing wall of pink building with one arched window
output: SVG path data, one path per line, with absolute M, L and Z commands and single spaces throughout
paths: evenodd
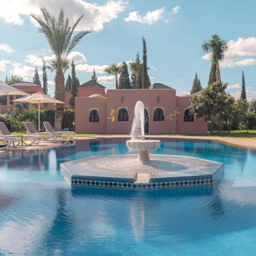
M 107 98 L 75 98 L 76 133 L 106 133 Z M 99 122 L 89 122 L 90 109 L 99 109 Z

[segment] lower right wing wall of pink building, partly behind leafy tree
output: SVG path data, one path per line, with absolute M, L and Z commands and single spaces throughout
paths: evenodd
M 184 122 L 184 111 L 190 105 L 190 97 L 176 97 L 180 114 L 177 122 L 177 133 L 207 133 L 207 123 L 204 118 L 194 118 L 194 122 Z

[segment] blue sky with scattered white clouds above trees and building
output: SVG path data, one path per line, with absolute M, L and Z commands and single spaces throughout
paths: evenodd
M 42 5 L 43 3 L 43 5 Z M 222 82 L 239 98 L 242 71 L 247 99 L 256 98 L 256 1 L 245 0 L 1 0 L 0 79 L 6 75 L 33 81 L 37 67 L 42 81 L 42 60 L 53 58 L 45 36 L 29 16 L 45 7 L 52 15 L 65 11 L 70 25 L 84 14 L 77 31 L 90 30 L 69 56 L 76 64 L 80 83 L 89 81 L 93 68 L 98 82 L 115 88 L 115 78 L 104 72 L 113 63 L 142 57 L 142 37 L 148 53 L 150 82 L 163 83 L 189 93 L 195 74 L 207 85 L 211 61 L 202 44 L 213 34 L 228 42 L 220 62 Z M 67 70 L 65 77 L 71 74 Z M 47 70 L 48 87 L 54 96 L 54 72 Z

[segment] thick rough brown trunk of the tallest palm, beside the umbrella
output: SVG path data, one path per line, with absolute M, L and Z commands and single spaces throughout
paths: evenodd
M 56 70 L 55 74 L 55 99 L 65 102 L 65 79 L 61 69 Z M 54 130 L 61 131 L 64 105 L 56 104 Z

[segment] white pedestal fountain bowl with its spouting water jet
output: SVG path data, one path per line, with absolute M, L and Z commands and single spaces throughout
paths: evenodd
M 134 108 L 134 119 L 131 131 L 131 140 L 126 141 L 126 146 L 130 150 L 139 151 L 138 160 L 142 162 L 148 162 L 149 154 L 148 150 L 155 150 L 159 148 L 159 140 L 145 140 L 145 116 L 144 116 L 144 104 L 138 101 Z

